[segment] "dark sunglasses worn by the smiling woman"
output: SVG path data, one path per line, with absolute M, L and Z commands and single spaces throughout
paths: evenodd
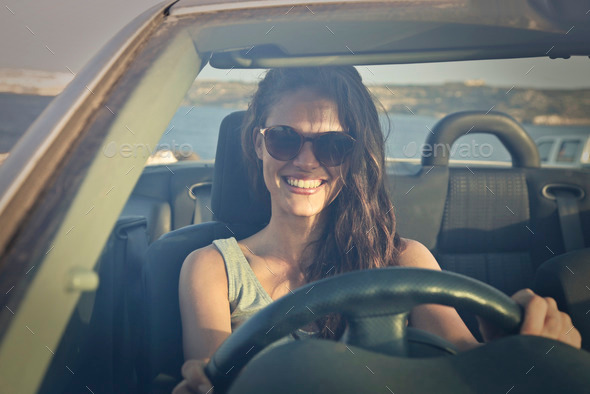
M 342 131 L 317 133 L 313 137 L 305 137 L 291 126 L 271 126 L 258 128 L 264 136 L 264 144 L 268 153 L 277 160 L 294 159 L 305 141 L 311 141 L 313 154 L 326 167 L 336 167 L 344 162 L 352 151 L 355 139 Z

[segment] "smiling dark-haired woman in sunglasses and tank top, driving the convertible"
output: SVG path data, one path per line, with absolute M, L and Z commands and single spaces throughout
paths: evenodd
M 338 135 L 348 135 L 350 145 L 334 158 L 317 141 Z M 175 393 L 210 390 L 198 360 L 208 360 L 238 325 L 303 284 L 391 266 L 440 270 L 427 248 L 396 231 L 377 109 L 353 67 L 271 69 L 246 113 L 242 147 L 251 190 L 270 200 L 270 221 L 239 242 L 216 240 L 186 258 L 179 295 L 190 361 Z M 526 308 L 522 332 L 580 347 L 575 329 L 562 336 L 571 320 L 555 302 L 527 292 L 515 295 Z M 545 316 L 551 323 L 543 323 Z M 460 350 L 478 345 L 453 308 L 417 306 L 409 322 Z M 329 314 L 311 329 L 313 336 L 340 338 L 345 323 Z M 494 328 L 484 324 L 482 331 L 490 338 Z

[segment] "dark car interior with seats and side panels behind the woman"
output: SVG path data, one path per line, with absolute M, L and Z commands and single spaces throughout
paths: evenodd
M 100 355 L 86 360 L 89 371 L 116 360 L 112 382 L 132 385 L 124 379 L 138 374 L 146 384 L 140 392 L 154 390 L 152 385 L 171 389 L 181 379 L 178 277 L 184 258 L 215 239 L 248 237 L 270 218 L 270 207 L 251 197 L 241 164 L 243 115 L 234 112 L 220 125 L 213 167 L 179 163 L 170 165 L 172 171 L 154 166 L 142 174 L 98 265 L 106 281 L 96 293 L 89 326 L 101 337 L 107 328 L 117 329 L 107 342 L 112 348 L 89 342 L 92 350 L 81 352 Z M 497 135 L 512 154 L 512 167 L 449 167 L 448 157 L 437 156 L 423 158 L 411 175 L 390 173 L 398 231 L 427 245 L 445 270 L 508 295 L 529 287 L 553 296 L 585 337 L 589 300 L 582 282 L 590 268 L 582 247 L 590 243 L 590 202 L 584 198 L 590 173 L 541 169 L 531 138 L 502 113 L 451 114 L 433 129 L 431 142 L 452 145 L 482 117 L 476 131 Z M 568 223 L 560 204 L 574 207 L 577 223 Z M 576 237 L 579 244 L 567 244 Z M 475 316 L 459 312 L 481 339 Z M 588 349 L 587 341 L 583 346 Z

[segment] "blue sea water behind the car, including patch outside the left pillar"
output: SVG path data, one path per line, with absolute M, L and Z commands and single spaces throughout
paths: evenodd
M 0 153 L 8 152 L 52 97 L 0 93 Z M 236 108 L 217 106 L 179 107 L 155 147 L 182 154 L 196 153 L 202 160 L 215 158 L 219 125 Z M 419 158 L 430 130 L 439 119 L 419 115 L 381 116 L 386 139 L 386 155 L 393 158 Z M 548 135 L 590 135 L 588 126 L 523 125 L 533 139 Z M 432 154 L 441 147 L 427 147 Z M 451 158 L 465 160 L 510 161 L 510 155 L 492 135 L 461 137 L 451 148 Z

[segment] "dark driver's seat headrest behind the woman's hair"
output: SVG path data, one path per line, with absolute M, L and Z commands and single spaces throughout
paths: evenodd
M 270 221 L 270 204 L 254 197 L 242 153 L 242 121 L 246 111 L 225 117 L 219 128 L 211 204 L 214 220 L 260 226 Z

